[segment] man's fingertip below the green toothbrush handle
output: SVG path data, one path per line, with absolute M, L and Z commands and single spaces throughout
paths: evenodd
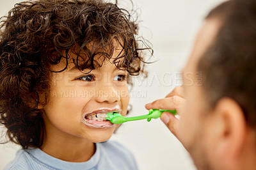
M 179 120 L 170 114 L 170 112 L 163 112 L 161 120 L 169 128 L 173 135 L 179 139 Z

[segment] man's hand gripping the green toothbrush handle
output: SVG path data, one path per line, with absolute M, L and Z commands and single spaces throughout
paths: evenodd
M 177 87 L 173 89 L 165 98 L 156 100 L 150 104 L 145 105 L 146 109 L 164 109 L 164 110 L 176 110 L 178 113 L 182 109 L 182 105 L 185 103 L 184 89 Z M 179 120 L 173 116 L 170 112 L 163 112 L 161 120 L 170 129 L 170 131 L 179 138 Z

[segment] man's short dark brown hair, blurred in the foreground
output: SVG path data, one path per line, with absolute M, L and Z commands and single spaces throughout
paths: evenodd
M 233 98 L 243 109 L 248 125 L 255 128 L 256 1 L 234 0 L 227 8 L 230 10 L 223 16 L 214 43 L 200 59 L 198 71 L 203 72 L 211 107 L 223 97 Z

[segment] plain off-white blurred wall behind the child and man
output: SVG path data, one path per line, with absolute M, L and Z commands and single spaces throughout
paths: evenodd
M 140 35 L 152 43 L 157 62 L 148 65 L 147 80 L 134 79 L 129 116 L 147 114 L 145 104 L 163 98 L 180 85 L 180 70 L 186 63 L 204 16 L 222 1 L 133 0 L 134 6 L 140 8 Z M 0 0 L 0 15 L 6 15 L 18 2 Z M 189 154 L 160 120 L 125 123 L 112 139 L 133 151 L 142 170 L 195 169 Z M 17 149 L 19 146 L 14 144 L 0 144 L 0 169 L 15 157 Z

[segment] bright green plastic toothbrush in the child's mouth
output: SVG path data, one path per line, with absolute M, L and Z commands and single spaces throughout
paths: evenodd
M 163 112 L 170 112 L 173 115 L 177 114 L 176 110 L 169 111 L 169 110 L 162 110 L 162 109 L 150 109 L 149 114 L 134 116 L 134 117 L 124 117 L 118 112 L 108 112 L 107 114 L 108 117 L 106 118 L 106 120 L 109 120 L 111 121 L 111 123 L 114 123 L 114 124 L 121 124 L 127 121 L 145 120 L 145 119 L 150 121 L 152 118 L 154 119 L 159 118 Z

